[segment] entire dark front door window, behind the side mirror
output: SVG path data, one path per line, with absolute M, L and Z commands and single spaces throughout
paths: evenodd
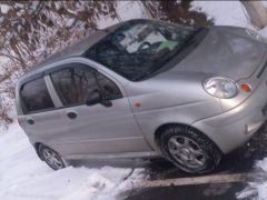
M 111 80 L 80 63 L 71 63 L 65 69 L 52 72 L 51 80 L 63 106 L 83 104 L 88 94 L 96 90 L 106 100 L 122 97 L 119 88 Z

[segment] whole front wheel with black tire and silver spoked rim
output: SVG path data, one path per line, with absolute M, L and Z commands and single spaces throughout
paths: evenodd
M 211 172 L 221 159 L 218 147 L 200 131 L 186 126 L 171 126 L 159 137 L 164 156 L 182 171 Z

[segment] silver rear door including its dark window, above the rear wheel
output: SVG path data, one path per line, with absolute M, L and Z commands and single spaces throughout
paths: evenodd
M 40 76 L 29 80 L 20 88 L 20 104 L 23 114 L 19 117 L 21 126 L 32 142 L 42 142 L 62 152 L 53 146 L 55 138 L 68 132 L 69 127 L 52 101 L 46 83 L 46 78 Z M 81 152 L 82 148 L 76 149 Z M 62 152 L 63 153 L 63 152 Z

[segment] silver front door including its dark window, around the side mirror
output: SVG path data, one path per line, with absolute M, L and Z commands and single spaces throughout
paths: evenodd
M 111 78 L 78 62 L 60 67 L 49 74 L 63 104 L 61 114 L 69 124 L 69 131 L 55 142 L 69 148 L 72 144 L 85 146 L 87 153 L 150 151 L 128 99 Z M 110 104 L 87 106 L 86 99 L 92 91 L 99 91 Z

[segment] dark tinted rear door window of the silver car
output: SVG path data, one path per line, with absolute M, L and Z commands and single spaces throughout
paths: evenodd
M 24 112 L 55 108 L 43 78 L 23 84 L 20 96 L 24 104 Z

